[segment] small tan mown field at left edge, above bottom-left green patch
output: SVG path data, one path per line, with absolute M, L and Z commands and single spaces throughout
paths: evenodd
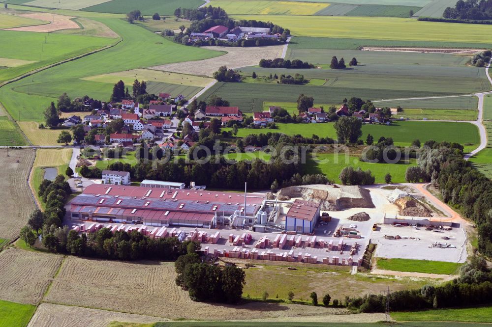
M 62 256 L 9 247 L 0 252 L 1 300 L 37 304 L 62 263 Z

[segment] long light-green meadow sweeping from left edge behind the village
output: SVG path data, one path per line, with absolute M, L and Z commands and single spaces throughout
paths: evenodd
M 32 79 L 24 79 L 0 88 L 2 103 L 14 117 L 18 117 L 19 110 L 22 109 L 21 120 L 41 122 L 44 108 L 63 92 L 67 92 L 72 98 L 85 94 L 101 100 L 110 97 L 113 88 L 111 83 L 81 80 L 84 77 L 216 55 L 216 52 L 204 49 L 185 48 L 118 18 L 98 18 L 98 14 L 95 16 L 97 18 L 93 19 L 124 35 L 123 41 L 111 49 L 70 61 L 35 74 Z M 135 49 L 145 49 L 145 55 Z

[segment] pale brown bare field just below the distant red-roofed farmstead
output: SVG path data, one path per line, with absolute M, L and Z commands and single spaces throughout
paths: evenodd
M 175 72 L 192 75 L 212 76 L 220 66 L 227 66 L 229 69 L 236 69 L 246 66 L 255 66 L 261 59 L 275 59 L 282 56 L 283 45 L 254 48 L 235 48 L 235 47 L 203 47 L 208 50 L 222 51 L 226 54 L 198 61 L 179 62 L 161 66 L 151 67 L 152 69 L 166 72 Z

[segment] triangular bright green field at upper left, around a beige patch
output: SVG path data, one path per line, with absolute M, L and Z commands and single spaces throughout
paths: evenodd
M 0 82 L 115 42 L 103 37 L 8 30 L 0 30 L 0 39 L 2 40 L 0 58 L 33 61 L 26 65 L 1 69 Z

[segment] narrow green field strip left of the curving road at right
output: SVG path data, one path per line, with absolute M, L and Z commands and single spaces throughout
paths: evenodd
M 394 119 L 404 117 L 405 119 L 429 120 L 463 120 L 475 121 L 478 117 L 478 110 L 453 110 L 453 109 L 403 109 L 398 115 L 391 116 Z

